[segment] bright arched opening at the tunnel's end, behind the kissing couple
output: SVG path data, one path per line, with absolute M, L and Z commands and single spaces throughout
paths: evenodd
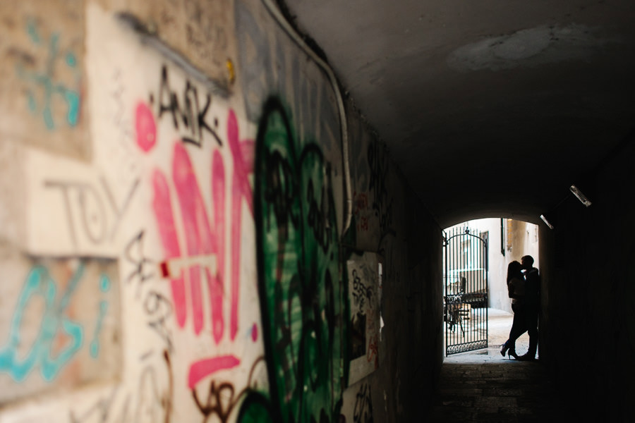
M 488 218 L 464 221 L 442 233 L 445 356 L 475 351 L 500 357 L 498 348 L 507 340 L 514 315 L 507 267 L 531 256 L 540 268 L 538 226 Z M 526 332 L 518 341 L 519 351 L 527 350 Z

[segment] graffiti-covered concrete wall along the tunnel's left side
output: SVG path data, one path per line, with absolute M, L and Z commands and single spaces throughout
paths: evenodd
M 440 229 L 264 2 L 0 14 L 0 422 L 425 413 Z

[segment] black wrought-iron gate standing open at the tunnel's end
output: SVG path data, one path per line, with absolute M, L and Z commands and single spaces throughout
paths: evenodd
M 445 355 L 488 348 L 488 235 L 444 232 Z

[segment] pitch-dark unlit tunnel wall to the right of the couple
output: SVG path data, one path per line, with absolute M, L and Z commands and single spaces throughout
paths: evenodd
M 591 207 L 569 195 L 546 214 L 555 229 L 540 226 L 540 358 L 548 360 L 563 406 L 574 405 L 572 418 L 633 419 L 634 141 L 631 135 L 601 168 L 575 181 Z

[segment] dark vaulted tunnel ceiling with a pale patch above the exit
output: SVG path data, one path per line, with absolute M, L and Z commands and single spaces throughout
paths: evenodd
M 538 223 L 634 126 L 635 1 L 286 6 L 442 227 Z

